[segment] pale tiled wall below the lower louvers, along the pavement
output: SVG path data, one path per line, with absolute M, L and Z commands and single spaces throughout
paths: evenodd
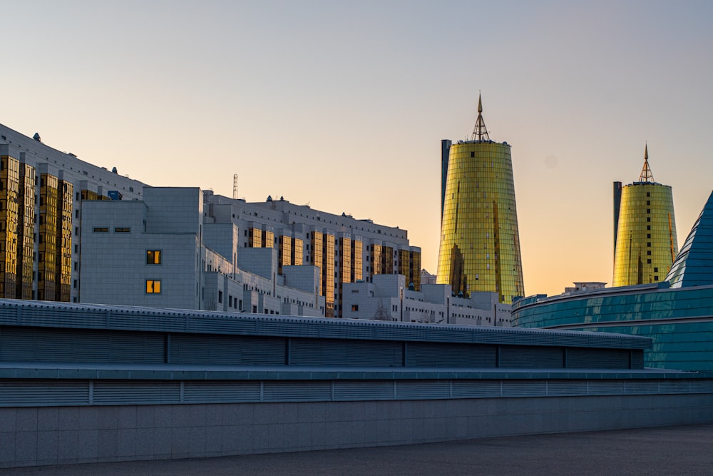
M 0 408 L 0 467 L 404 445 L 713 421 L 710 394 Z

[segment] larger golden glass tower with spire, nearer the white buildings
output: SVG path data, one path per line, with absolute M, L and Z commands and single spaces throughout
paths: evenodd
M 478 97 L 470 141 L 442 141 L 441 247 L 438 284 L 455 295 L 498 293 L 512 303 L 523 289 L 510 146 L 490 140 Z

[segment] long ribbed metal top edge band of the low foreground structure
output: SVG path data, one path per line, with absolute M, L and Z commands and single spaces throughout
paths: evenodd
M 19 316 L 19 318 L 18 318 Z M 0 323 L 63 328 L 115 328 L 160 332 L 334 337 L 352 340 L 498 343 L 595 348 L 646 349 L 650 338 L 607 333 L 513 328 L 476 328 L 435 324 L 352 322 L 327 318 L 169 310 L 117 305 L 38 303 L 3 300 Z

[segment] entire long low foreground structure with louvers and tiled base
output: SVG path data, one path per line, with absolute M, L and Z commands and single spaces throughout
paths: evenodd
M 635 335 L 0 300 L 0 467 L 713 419 Z M 59 424 L 58 424 L 59 422 Z

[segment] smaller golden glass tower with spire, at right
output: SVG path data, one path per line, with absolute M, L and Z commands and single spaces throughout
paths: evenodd
M 665 280 L 678 253 L 671 187 L 656 183 L 648 146 L 639 181 L 614 183 L 614 286 Z

